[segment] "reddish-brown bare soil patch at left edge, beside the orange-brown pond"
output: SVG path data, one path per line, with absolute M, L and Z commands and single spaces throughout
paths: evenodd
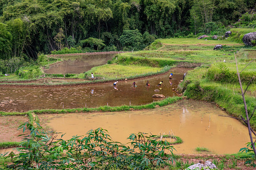
M 17 130 L 20 125 L 28 122 L 25 116 L 0 116 L 0 142 L 21 141 L 23 130 Z M 27 131 L 25 131 L 27 133 Z

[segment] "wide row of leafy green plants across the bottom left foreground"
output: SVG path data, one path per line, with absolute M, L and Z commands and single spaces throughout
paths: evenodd
M 114 142 L 102 128 L 69 140 L 44 131 L 37 122 L 20 129 L 30 133 L 24 135 L 17 154 L 6 156 L 11 163 L 3 164 L 3 169 L 156 169 L 174 160 L 173 146 L 141 132 L 131 134 L 126 145 Z

